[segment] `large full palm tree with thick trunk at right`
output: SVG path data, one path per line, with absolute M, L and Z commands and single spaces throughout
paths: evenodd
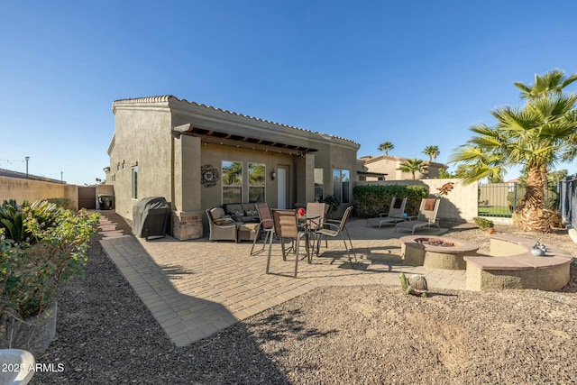
M 550 231 L 545 208 L 547 171 L 559 160 L 574 158 L 571 141 L 577 129 L 574 108 L 577 96 L 560 92 L 571 82 L 563 81 L 552 89 L 544 84 L 551 86 L 554 82 L 543 78 L 536 77 L 536 84 L 528 87 L 516 83 L 527 91 L 527 104 L 491 111 L 497 124 L 492 128 L 485 124 L 473 126 L 471 131 L 477 135 L 455 151 L 450 161 L 467 165 L 465 182 L 483 178 L 499 181 L 506 167 L 523 166 L 527 186 L 525 204 L 517 211 L 518 225 L 525 231 L 547 233 Z

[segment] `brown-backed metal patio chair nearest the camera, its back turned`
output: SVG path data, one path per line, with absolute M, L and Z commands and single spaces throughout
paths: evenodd
M 285 241 L 290 240 L 295 243 L 295 278 L 297 278 L 298 270 L 298 252 L 300 248 L 300 240 L 305 238 L 307 233 L 298 230 L 297 212 L 295 210 L 272 210 L 272 220 L 274 224 L 274 234 L 280 240 L 280 248 L 282 250 L 282 260 L 287 261 L 287 250 L 285 249 Z M 267 259 L 267 274 L 270 270 L 270 253 L 272 252 L 272 236 L 269 240 L 269 258 Z M 306 242 L 306 241 L 305 241 Z

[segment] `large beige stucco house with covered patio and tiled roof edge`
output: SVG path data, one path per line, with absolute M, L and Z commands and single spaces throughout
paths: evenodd
M 202 237 L 205 210 L 224 203 L 353 203 L 362 163 L 351 140 L 175 96 L 116 100 L 112 111 L 105 170 L 116 212 L 132 220 L 143 197 L 165 197 L 177 239 Z

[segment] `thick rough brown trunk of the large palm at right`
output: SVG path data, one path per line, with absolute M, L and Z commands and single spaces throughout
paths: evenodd
M 539 233 L 551 231 L 549 214 L 545 210 L 545 189 L 547 188 L 545 170 L 545 167 L 529 169 L 525 203 L 518 213 L 521 219 L 519 225 L 523 231 Z

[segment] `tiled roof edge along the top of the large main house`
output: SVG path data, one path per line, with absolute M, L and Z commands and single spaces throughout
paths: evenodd
M 202 105 L 196 102 L 189 102 L 186 99 L 179 99 L 176 96 L 150 96 L 150 97 L 140 97 L 140 98 L 133 98 L 133 99 L 120 99 L 120 100 L 116 100 L 114 101 L 113 105 L 112 105 L 112 111 L 115 114 L 116 109 L 118 108 L 123 108 L 123 107 L 130 107 L 130 105 L 150 105 L 151 107 L 153 106 L 158 106 L 158 105 L 165 105 L 166 107 L 170 107 L 170 108 L 175 108 L 175 110 L 179 110 L 179 109 L 184 109 L 187 110 L 187 112 L 190 112 L 190 110 L 196 110 L 194 111 L 197 114 L 200 115 L 206 115 L 206 114 L 213 114 L 213 113 L 217 113 L 219 115 L 228 115 L 230 118 L 234 118 L 234 120 L 238 120 L 238 118 L 240 118 L 241 122 L 239 122 L 240 124 L 251 124 L 251 125 L 263 125 L 263 129 L 270 129 L 270 128 L 274 128 L 274 127 L 279 127 L 281 130 L 285 131 L 285 133 L 287 131 L 298 131 L 300 133 L 305 133 L 307 135 L 310 136 L 309 139 L 312 140 L 316 140 L 316 141 L 320 141 L 320 142 L 343 142 L 344 143 L 348 143 L 348 145 L 353 145 L 353 147 L 356 147 L 357 149 L 360 147 L 360 144 L 357 142 L 353 142 L 350 139 L 346 139 L 340 136 L 334 136 L 334 135 L 330 135 L 330 134 L 325 134 L 325 133 L 318 133 L 315 131 L 311 131 L 311 130 L 307 130 L 304 128 L 299 128 L 299 127 L 295 127 L 289 124 L 280 124 L 280 123 L 276 123 L 276 122 L 271 122 L 269 120 L 265 120 L 265 119 L 261 119 L 261 118 L 256 118 L 253 116 L 249 116 L 249 115 L 243 115 L 243 114 L 238 114 L 238 113 L 234 113 L 228 110 L 224 110 L 221 108 L 216 108 L 210 105 Z M 212 131 L 210 133 L 207 133 L 207 130 L 202 130 L 201 128 L 198 127 L 194 127 L 194 130 L 196 133 L 202 134 L 202 135 L 209 135 L 209 134 L 213 134 Z M 253 135 L 253 136 L 258 136 L 258 135 Z M 258 138 L 257 138 L 258 139 Z M 108 152 L 110 153 L 110 151 L 112 151 L 112 148 L 114 147 L 114 137 L 112 139 L 112 141 L 110 142 L 110 146 L 108 149 Z M 307 151 L 315 151 L 314 149 L 311 148 L 304 148 Z

